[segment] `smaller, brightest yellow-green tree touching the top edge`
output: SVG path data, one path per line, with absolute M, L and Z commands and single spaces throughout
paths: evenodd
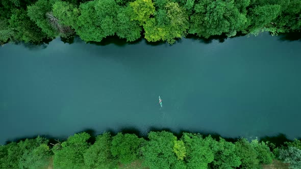
M 144 24 L 155 12 L 152 0 L 136 0 L 130 3 L 130 7 L 133 9 L 131 19 L 138 20 L 140 25 Z

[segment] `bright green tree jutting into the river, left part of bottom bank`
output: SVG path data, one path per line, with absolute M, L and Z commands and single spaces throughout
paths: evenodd
M 62 149 L 55 151 L 55 168 L 83 168 L 84 153 L 89 148 L 87 140 L 90 138 L 88 133 L 74 134 L 62 143 Z

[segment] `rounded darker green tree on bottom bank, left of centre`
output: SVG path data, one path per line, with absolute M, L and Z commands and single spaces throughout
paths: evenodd
M 112 140 L 112 155 L 117 157 L 121 163 L 130 163 L 141 154 L 141 147 L 144 141 L 143 138 L 138 138 L 135 134 L 118 133 Z

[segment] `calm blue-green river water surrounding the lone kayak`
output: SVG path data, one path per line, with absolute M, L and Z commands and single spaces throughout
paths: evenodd
M 151 127 L 225 137 L 301 136 L 301 41 L 267 33 L 0 47 L 0 144 L 36 134 Z M 163 108 L 158 96 L 163 99 Z

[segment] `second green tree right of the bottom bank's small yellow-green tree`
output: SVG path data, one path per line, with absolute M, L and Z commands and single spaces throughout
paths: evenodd
M 231 169 L 240 166 L 241 161 L 233 143 L 220 137 L 218 142 L 212 142 L 211 147 L 214 153 L 213 168 Z

